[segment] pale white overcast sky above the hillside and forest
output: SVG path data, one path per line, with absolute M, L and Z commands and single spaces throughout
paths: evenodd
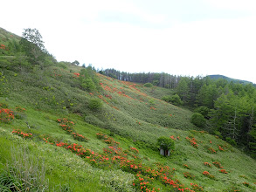
M 17 35 L 37 28 L 59 61 L 256 83 L 255 0 L 9 0 L 1 7 L 1 27 Z

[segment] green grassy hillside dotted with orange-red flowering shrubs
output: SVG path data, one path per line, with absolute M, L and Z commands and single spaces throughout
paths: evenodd
M 256 190 L 255 160 L 160 100 L 170 90 L 100 74 L 85 89 L 82 69 L 0 58 L 1 191 Z

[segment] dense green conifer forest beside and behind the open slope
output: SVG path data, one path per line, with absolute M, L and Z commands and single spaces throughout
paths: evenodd
M 232 145 L 245 147 L 256 157 L 255 85 L 200 76 L 182 77 L 164 72 L 128 73 L 114 69 L 100 72 L 115 79 L 151 83 L 174 90 L 174 95 L 179 96 L 183 106 L 204 117 L 206 123 L 201 128 L 217 134 Z

